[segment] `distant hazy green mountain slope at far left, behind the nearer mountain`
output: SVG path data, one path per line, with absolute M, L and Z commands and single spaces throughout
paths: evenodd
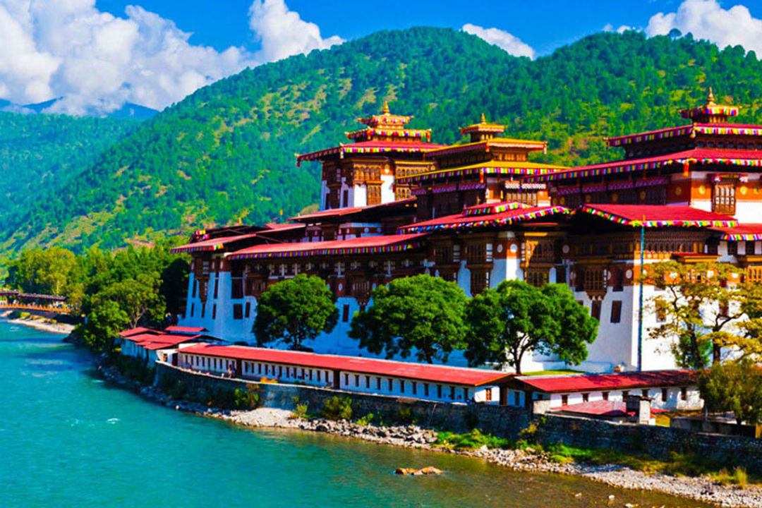
M 90 167 L 104 150 L 133 132 L 139 122 L 65 115 L 0 112 L 0 219 L 57 190 Z

